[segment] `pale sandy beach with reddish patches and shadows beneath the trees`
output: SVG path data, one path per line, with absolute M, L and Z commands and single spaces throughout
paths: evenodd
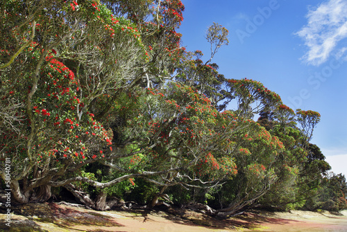
M 11 226 L 0 214 L 0 231 L 347 231 L 347 211 L 291 211 L 269 213 L 249 211 L 228 220 L 187 210 L 162 211 L 93 211 L 56 203 L 29 204 L 16 208 Z

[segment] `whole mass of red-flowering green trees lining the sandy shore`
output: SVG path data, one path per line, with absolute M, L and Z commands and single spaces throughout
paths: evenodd
M 117 198 L 203 203 L 220 217 L 346 208 L 346 179 L 329 176 L 310 143 L 320 114 L 220 74 L 212 59 L 229 41 L 217 23 L 206 62 L 186 51 L 184 10 L 180 0 L 0 3 L 0 174 L 4 185 L 9 158 L 13 199 L 64 189 L 98 210 Z

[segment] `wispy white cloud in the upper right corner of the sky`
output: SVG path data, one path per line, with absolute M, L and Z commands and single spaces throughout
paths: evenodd
M 347 0 L 329 0 L 312 8 L 306 15 L 307 24 L 296 35 L 305 40 L 307 53 L 305 62 L 319 65 L 328 60 L 332 53 L 344 53 L 339 49 L 342 39 L 347 38 Z

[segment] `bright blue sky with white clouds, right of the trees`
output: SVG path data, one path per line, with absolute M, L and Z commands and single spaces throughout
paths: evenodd
M 210 58 L 208 27 L 229 30 L 212 62 L 226 78 L 253 79 L 292 109 L 321 114 L 311 143 L 347 177 L 347 0 L 182 0 L 187 51 Z

